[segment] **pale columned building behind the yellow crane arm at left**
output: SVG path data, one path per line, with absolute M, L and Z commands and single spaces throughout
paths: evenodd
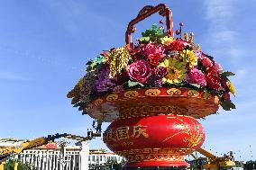
M 21 141 L 17 142 L 19 143 L 13 140 L 0 140 L 0 146 L 11 147 L 21 143 Z M 111 160 L 120 163 L 124 160 L 123 157 L 106 152 L 104 149 L 89 150 L 87 142 L 78 142 L 74 146 L 65 147 L 57 143 L 49 143 L 38 148 L 23 150 L 14 158 L 35 166 L 39 170 L 87 170 L 89 165 L 103 165 Z

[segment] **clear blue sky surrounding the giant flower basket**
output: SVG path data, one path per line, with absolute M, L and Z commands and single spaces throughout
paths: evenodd
M 32 139 L 56 132 L 85 136 L 92 119 L 72 108 L 67 92 L 85 74 L 89 58 L 123 46 L 127 23 L 144 5 L 159 3 L 169 4 L 175 29 L 184 22 L 204 51 L 236 73 L 237 109 L 220 110 L 201 121 L 204 146 L 218 154 L 233 150 L 238 159 L 256 159 L 254 0 L 1 1 L 0 137 Z M 152 16 L 137 31 L 160 19 Z M 96 139 L 91 148 L 105 145 Z

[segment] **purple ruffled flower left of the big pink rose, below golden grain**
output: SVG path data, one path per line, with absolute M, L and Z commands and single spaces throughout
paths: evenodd
M 96 91 L 97 92 L 106 92 L 114 87 L 114 83 L 109 78 L 109 68 L 104 68 L 98 75 L 96 80 Z

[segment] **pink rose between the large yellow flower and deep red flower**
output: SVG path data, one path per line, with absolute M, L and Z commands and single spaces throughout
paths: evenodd
M 198 70 L 197 68 L 193 68 L 190 70 L 188 74 L 188 81 L 191 84 L 197 84 L 201 86 L 206 86 L 206 76 L 202 71 Z

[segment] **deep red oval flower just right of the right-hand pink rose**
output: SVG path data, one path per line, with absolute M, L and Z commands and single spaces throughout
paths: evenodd
M 206 72 L 206 83 L 209 88 L 215 90 L 219 90 L 221 87 L 219 74 L 212 67 L 209 68 Z

